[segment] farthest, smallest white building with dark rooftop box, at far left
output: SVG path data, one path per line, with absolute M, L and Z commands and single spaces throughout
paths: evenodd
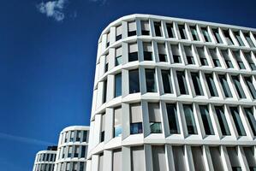
M 47 150 L 40 150 L 35 158 L 33 171 L 53 171 L 57 154 L 57 146 L 49 146 Z

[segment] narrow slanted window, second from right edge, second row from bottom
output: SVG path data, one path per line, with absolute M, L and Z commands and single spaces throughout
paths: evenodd
M 236 131 L 239 136 L 246 136 L 247 133 L 242 126 L 241 117 L 239 115 L 238 109 L 236 107 L 230 107 L 230 112 L 233 118 L 233 121 L 235 122 Z

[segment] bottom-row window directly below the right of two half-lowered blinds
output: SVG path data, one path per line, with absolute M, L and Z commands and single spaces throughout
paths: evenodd
M 164 145 L 152 145 L 152 164 L 155 171 L 166 171 L 166 156 Z

